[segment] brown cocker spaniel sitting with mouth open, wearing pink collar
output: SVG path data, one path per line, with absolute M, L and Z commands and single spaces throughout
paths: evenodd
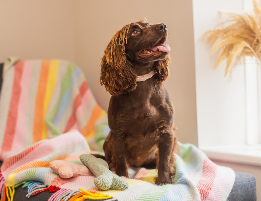
M 162 84 L 169 76 L 167 35 L 165 24 L 130 23 L 101 61 L 100 83 L 112 95 L 105 159 L 120 176 L 128 176 L 128 165 L 157 168 L 156 184 L 170 183 L 175 173 L 174 109 Z

